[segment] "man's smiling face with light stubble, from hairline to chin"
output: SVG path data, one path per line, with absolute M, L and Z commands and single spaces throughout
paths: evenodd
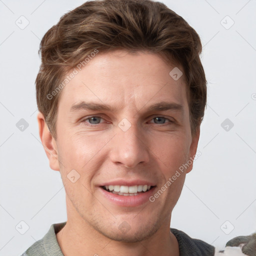
M 169 229 L 192 164 L 179 168 L 199 136 L 191 137 L 183 77 L 169 75 L 174 67 L 152 53 L 99 52 L 62 89 L 52 139 L 58 161 L 48 157 L 77 225 L 128 242 Z

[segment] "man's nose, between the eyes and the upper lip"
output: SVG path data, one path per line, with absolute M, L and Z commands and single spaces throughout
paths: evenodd
M 110 159 L 115 164 L 135 168 L 138 163 L 149 161 L 149 148 L 145 131 L 143 132 L 140 127 L 137 127 L 136 123 L 130 124 L 131 126 L 127 130 L 120 128 L 121 126 L 116 127 Z

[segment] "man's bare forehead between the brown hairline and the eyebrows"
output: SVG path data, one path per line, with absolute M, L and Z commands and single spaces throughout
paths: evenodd
M 59 105 L 65 103 L 71 108 L 80 101 L 94 101 L 140 109 L 159 100 L 187 103 L 183 77 L 175 80 L 169 74 L 177 67 L 157 54 L 99 52 L 83 64 L 71 70 L 76 74 L 62 89 Z

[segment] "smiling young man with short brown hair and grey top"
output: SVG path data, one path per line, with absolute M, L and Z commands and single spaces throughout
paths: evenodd
M 67 221 L 23 255 L 213 255 L 170 228 L 206 104 L 195 30 L 160 2 L 88 1 L 40 51 L 39 135 Z

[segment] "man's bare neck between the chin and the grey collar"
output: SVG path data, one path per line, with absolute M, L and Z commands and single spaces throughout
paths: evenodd
M 137 242 L 123 242 L 113 240 L 98 232 L 81 216 L 72 211 L 67 211 L 65 226 L 56 234 L 62 253 L 65 256 L 178 256 L 178 242 L 170 232 L 170 215 L 166 221 L 144 240 Z

